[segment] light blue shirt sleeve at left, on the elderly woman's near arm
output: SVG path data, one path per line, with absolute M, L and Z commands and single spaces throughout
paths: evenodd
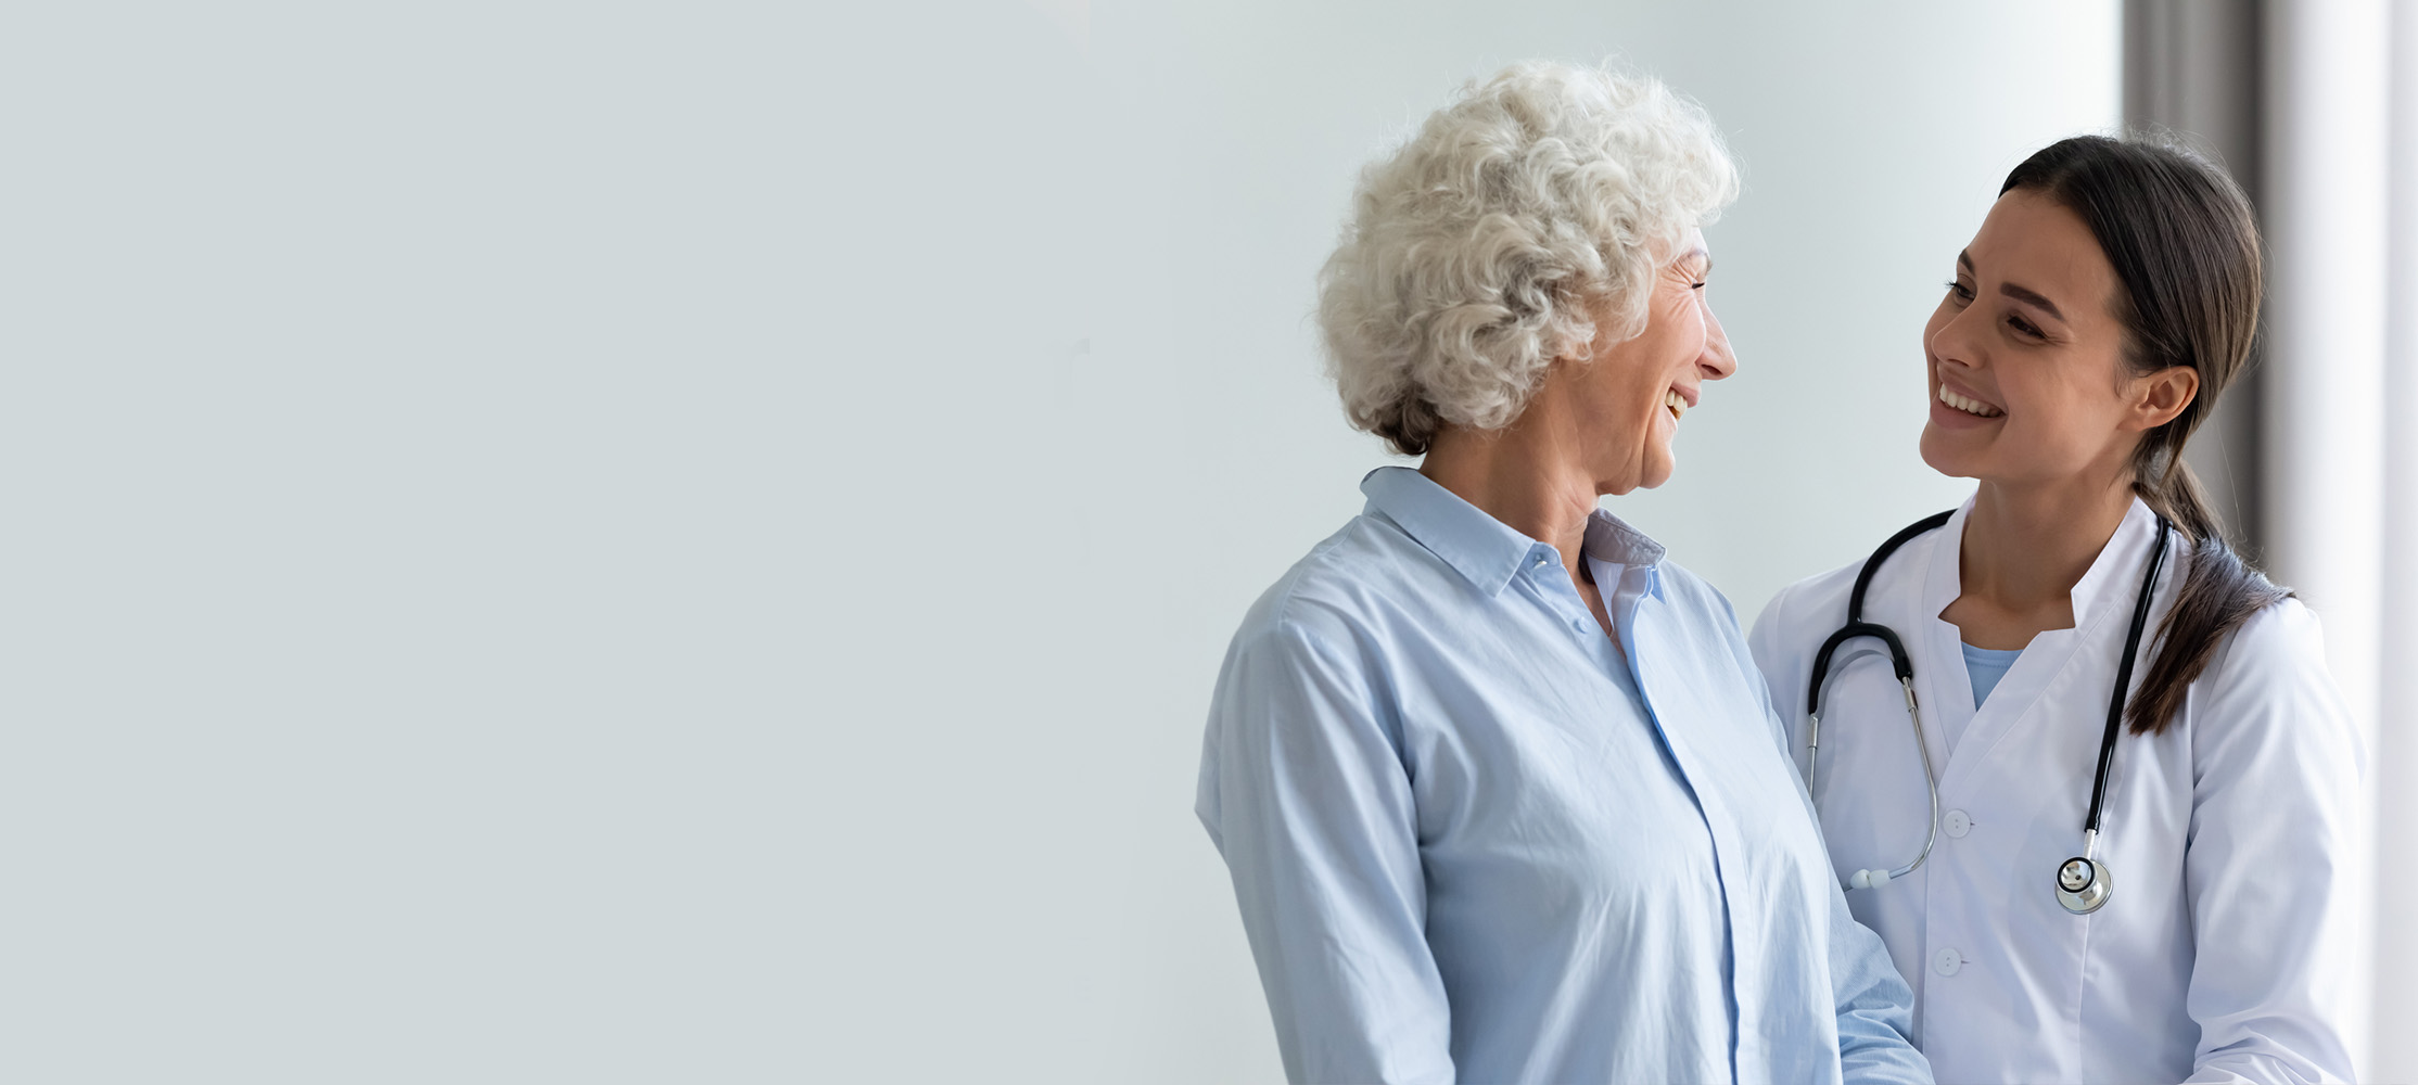
M 1398 735 L 1364 669 L 1277 623 L 1226 657 L 1199 817 L 1296 1083 L 1448 1083 L 1451 1015 Z

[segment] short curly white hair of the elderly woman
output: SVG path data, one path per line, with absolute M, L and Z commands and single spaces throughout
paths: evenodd
M 1509 425 L 1598 319 L 1644 331 L 1654 273 L 1736 196 L 1712 118 L 1661 80 L 1528 60 L 1465 85 L 1361 172 L 1318 273 L 1344 413 L 1412 457 L 1444 423 Z

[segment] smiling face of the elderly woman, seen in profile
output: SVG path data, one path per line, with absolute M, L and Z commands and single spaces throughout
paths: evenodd
M 1574 365 L 1574 389 L 1589 420 L 1586 464 L 1603 493 L 1654 488 L 1671 478 L 1671 437 L 1707 379 L 1739 372 L 1729 336 L 1705 300 L 1712 254 L 1705 232 L 1690 230 L 1678 256 L 1654 275 L 1647 329 L 1637 338 L 1593 343 L 1593 360 Z

